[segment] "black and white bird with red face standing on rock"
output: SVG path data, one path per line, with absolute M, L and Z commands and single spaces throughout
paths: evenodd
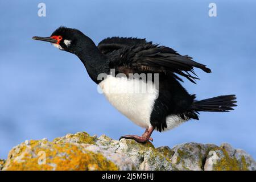
M 182 56 L 172 48 L 145 39 L 113 37 L 96 46 L 81 31 L 67 27 L 57 28 L 49 37 L 34 36 L 32 39 L 50 42 L 60 50 L 78 56 L 108 101 L 146 129 L 141 137 L 125 135 L 121 138 L 141 143 L 152 141 L 154 130 L 167 131 L 189 119 L 198 120 L 200 111 L 228 112 L 236 106 L 235 95 L 197 101 L 195 94 L 189 94 L 180 84 L 183 80 L 179 76 L 195 83 L 198 78 L 193 68 L 207 73 L 210 69 L 193 61 L 192 57 Z M 144 74 L 146 79 L 130 78 L 136 74 Z M 146 92 L 141 92 L 143 86 L 147 88 Z

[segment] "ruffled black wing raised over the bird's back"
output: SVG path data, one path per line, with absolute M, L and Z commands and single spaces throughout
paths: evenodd
M 108 38 L 102 40 L 98 48 L 109 57 L 111 67 L 131 73 L 172 72 L 195 83 L 194 80 L 198 78 L 194 67 L 207 73 L 211 72 L 204 64 L 193 61 L 192 57 L 179 55 L 172 48 L 152 44 L 145 39 Z M 175 78 L 182 81 L 175 74 Z

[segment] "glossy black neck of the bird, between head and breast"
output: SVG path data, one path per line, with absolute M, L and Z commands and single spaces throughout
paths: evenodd
M 108 74 L 110 71 L 108 59 L 88 37 L 81 43 L 80 49 L 75 54 L 85 65 L 90 78 L 92 78 L 96 84 L 101 81 L 98 78 L 101 73 Z

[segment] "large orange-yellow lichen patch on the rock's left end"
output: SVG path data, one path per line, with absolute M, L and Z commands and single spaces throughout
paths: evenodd
M 43 145 L 42 145 L 43 143 Z M 21 145 L 22 151 L 11 151 L 9 165 L 6 170 L 118 170 L 118 167 L 101 154 L 84 151 L 79 146 L 70 143 L 55 144 L 31 140 L 30 146 Z M 44 152 L 45 164 L 40 163 Z

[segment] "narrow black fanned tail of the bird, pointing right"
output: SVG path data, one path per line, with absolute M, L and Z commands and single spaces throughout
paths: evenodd
M 218 96 L 193 102 L 193 110 L 208 112 L 229 112 L 237 106 L 236 95 Z

